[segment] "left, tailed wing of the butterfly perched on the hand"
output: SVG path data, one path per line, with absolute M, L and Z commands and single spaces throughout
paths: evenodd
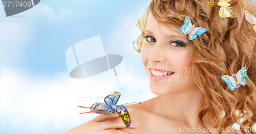
M 84 107 L 84 106 L 78 106 L 79 108 L 87 108 L 90 109 L 90 112 L 86 113 L 96 113 L 96 114 L 112 114 L 113 113 L 113 108 L 111 106 L 108 106 L 104 103 L 94 103 L 90 107 Z M 85 113 L 80 113 L 80 114 L 85 114 Z

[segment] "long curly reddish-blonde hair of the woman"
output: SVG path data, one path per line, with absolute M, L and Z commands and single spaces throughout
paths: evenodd
M 207 106 L 198 115 L 204 128 L 203 116 L 210 115 L 215 127 L 230 127 L 238 123 L 250 127 L 256 123 L 256 42 L 252 24 L 245 19 L 245 10 L 256 15 L 256 5 L 248 0 L 229 2 L 236 11 L 234 18 L 221 18 L 218 5 L 207 5 L 199 0 L 153 0 L 146 10 L 142 33 L 137 39 L 140 52 L 148 14 L 166 25 L 183 25 L 189 16 L 196 27 L 207 29 L 205 34 L 189 40 L 194 81 L 204 94 Z M 222 75 L 237 73 L 247 68 L 247 83 L 234 91 L 221 79 Z M 243 119 L 243 121 L 241 121 Z M 242 133 L 256 133 L 244 131 Z

